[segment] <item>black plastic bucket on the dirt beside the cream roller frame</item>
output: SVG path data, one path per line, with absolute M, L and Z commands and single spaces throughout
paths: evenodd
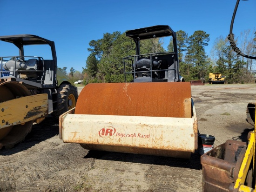
M 209 152 L 211 149 L 213 149 L 215 137 L 208 134 L 200 134 L 198 135 L 199 139 L 199 154 L 202 155 L 206 152 Z

